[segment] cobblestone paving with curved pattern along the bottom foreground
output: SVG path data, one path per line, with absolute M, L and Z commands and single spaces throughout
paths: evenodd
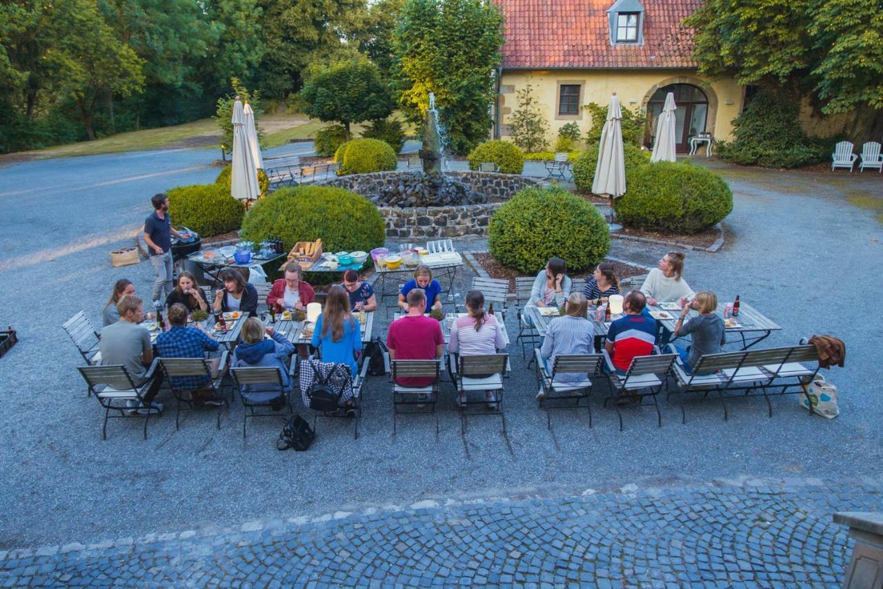
M 0 552 L 0 585 L 834 586 L 851 546 L 831 514 L 881 498 L 868 482 L 749 479 L 421 501 Z

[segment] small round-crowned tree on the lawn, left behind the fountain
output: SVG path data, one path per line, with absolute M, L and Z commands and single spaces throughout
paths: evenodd
M 300 97 L 306 114 L 322 122 L 340 122 L 346 129 L 346 141 L 351 139 L 351 123 L 386 119 L 395 106 L 377 65 L 366 59 L 311 72 Z

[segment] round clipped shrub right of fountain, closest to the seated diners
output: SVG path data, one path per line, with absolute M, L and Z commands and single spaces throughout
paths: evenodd
M 491 254 L 518 272 L 540 272 L 559 256 L 568 272 L 598 264 L 610 249 L 610 232 L 598 209 L 561 187 L 528 187 L 491 218 Z

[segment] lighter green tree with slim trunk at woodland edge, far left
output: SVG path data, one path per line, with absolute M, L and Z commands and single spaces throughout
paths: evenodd
M 94 110 L 106 93 L 132 96 L 144 88 L 140 59 L 105 22 L 94 2 L 59 0 L 59 26 L 68 34 L 46 53 L 57 71 L 57 85 L 70 96 L 89 139 L 95 138 Z M 61 34 L 59 32 L 59 34 Z

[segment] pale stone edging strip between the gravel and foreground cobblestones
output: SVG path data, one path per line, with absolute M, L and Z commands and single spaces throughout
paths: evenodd
M 365 507 L 359 511 L 353 510 L 336 510 L 328 513 L 313 516 L 292 516 L 284 520 L 281 518 L 255 519 L 248 520 L 242 524 L 234 524 L 229 526 L 206 527 L 201 530 L 185 530 L 184 532 L 154 532 L 138 538 L 132 536 L 103 539 L 87 544 L 72 541 L 62 545 L 47 545 L 34 548 L 10 548 L 0 550 L 0 563 L 7 560 L 17 560 L 23 558 L 34 558 L 42 556 L 69 555 L 71 553 L 89 553 L 95 550 L 109 550 L 112 548 L 128 548 L 150 544 L 157 541 L 166 542 L 172 540 L 198 540 L 215 538 L 223 535 L 241 534 L 244 532 L 252 532 L 259 535 L 264 533 L 281 534 L 286 532 L 297 532 L 303 528 L 309 529 L 316 524 L 326 524 L 328 522 L 336 522 L 348 518 L 360 518 L 370 516 L 383 516 L 384 514 L 396 514 L 415 512 L 428 509 L 448 509 L 463 506 L 491 506 L 507 504 L 518 501 L 601 501 L 604 497 L 623 496 L 629 499 L 635 497 L 656 498 L 662 496 L 669 489 L 677 489 L 679 492 L 734 492 L 739 490 L 751 490 L 761 494 L 774 493 L 800 493 L 802 488 L 806 487 L 842 487 L 842 486 L 862 486 L 874 487 L 874 491 L 883 493 L 883 478 L 855 478 L 855 479 L 823 479 L 823 478 L 774 478 L 774 477 L 753 477 L 743 475 L 737 478 L 712 478 L 709 481 L 676 481 L 684 483 L 683 486 L 673 486 L 670 479 L 663 479 L 668 485 L 661 484 L 661 480 L 653 478 L 644 478 L 638 480 L 637 483 L 628 483 L 623 485 L 610 486 L 608 488 L 585 488 L 579 490 L 577 487 L 570 486 L 562 489 L 561 494 L 552 494 L 558 489 L 552 489 L 551 493 L 546 494 L 537 492 L 536 490 L 525 490 L 522 493 L 513 494 L 509 497 L 496 495 L 487 495 L 484 497 L 472 498 L 453 498 L 442 497 L 435 499 L 423 499 L 414 501 L 408 505 L 399 505 L 389 503 L 379 507 Z M 654 485 L 654 483 L 657 483 Z M 589 499 L 592 498 L 592 499 Z

